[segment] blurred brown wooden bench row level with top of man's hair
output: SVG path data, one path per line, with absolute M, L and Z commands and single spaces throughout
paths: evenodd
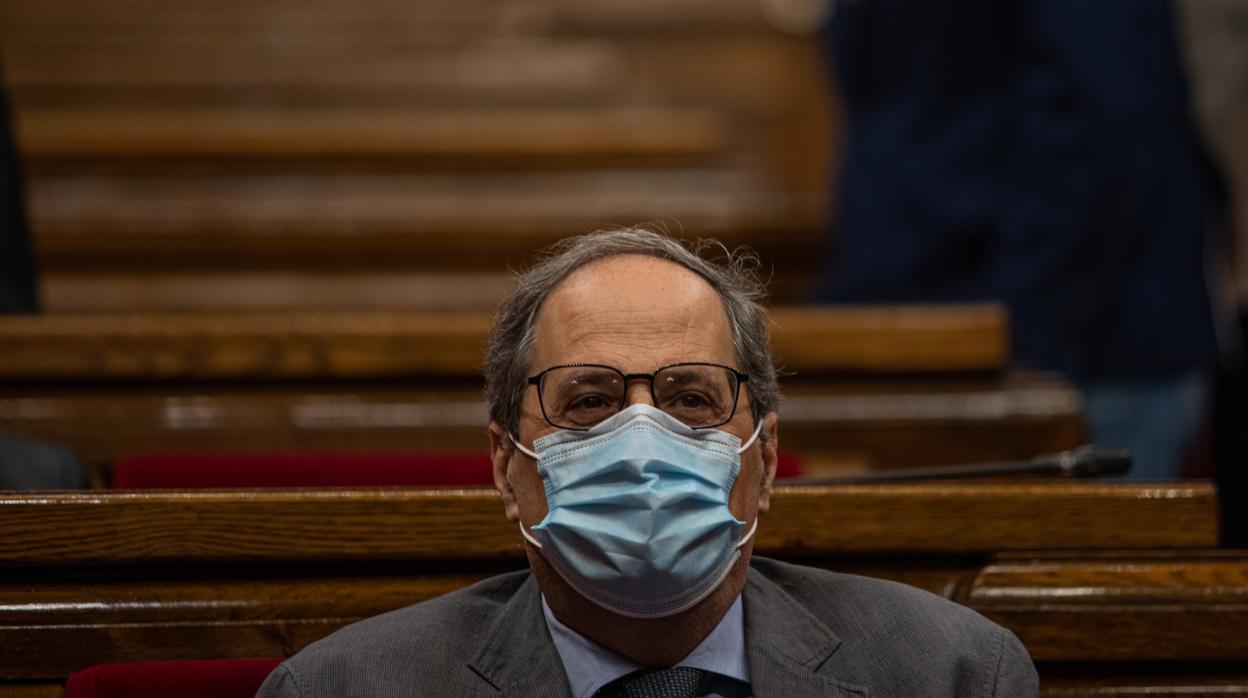
M 811 266 L 817 197 L 714 169 L 553 172 L 72 172 L 30 186 L 50 272 L 110 268 L 423 268 L 499 272 L 569 235 L 656 224 L 758 243 L 789 273 Z M 768 233 L 775 233 L 768 237 Z M 193 257 L 187 258 L 187 255 Z

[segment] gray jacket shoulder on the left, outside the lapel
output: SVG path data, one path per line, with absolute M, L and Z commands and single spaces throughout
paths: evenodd
M 283 662 L 257 696 L 472 694 L 480 679 L 467 661 L 528 578 L 490 577 L 339 628 Z

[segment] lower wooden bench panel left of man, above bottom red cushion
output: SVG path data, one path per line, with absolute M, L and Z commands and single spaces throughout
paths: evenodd
M 513 564 L 518 568 L 523 562 Z M 444 594 L 488 571 L 406 576 L 39 581 L 0 586 L 0 677 L 96 662 L 277 657 L 354 621 Z

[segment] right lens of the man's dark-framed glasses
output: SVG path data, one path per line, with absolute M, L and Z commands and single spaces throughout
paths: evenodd
M 721 366 L 669 366 L 654 375 L 654 398 L 686 426 L 719 426 L 733 417 L 736 376 Z

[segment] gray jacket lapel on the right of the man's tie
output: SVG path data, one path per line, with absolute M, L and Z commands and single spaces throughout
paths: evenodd
M 750 569 L 745 582 L 745 653 L 755 698 L 865 698 L 866 688 L 825 669 L 841 639 L 778 584 Z

